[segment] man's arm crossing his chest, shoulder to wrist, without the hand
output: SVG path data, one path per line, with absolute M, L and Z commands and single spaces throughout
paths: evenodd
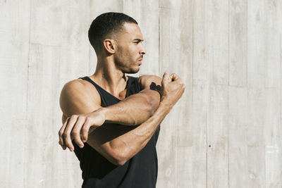
M 154 75 L 142 75 L 139 82 L 141 85 L 139 93 L 128 96 L 118 104 L 99 108 L 93 113 L 103 113 L 105 123 L 118 123 L 121 125 L 140 125 L 144 123 L 159 106 L 161 78 Z M 91 117 L 92 114 L 88 115 Z

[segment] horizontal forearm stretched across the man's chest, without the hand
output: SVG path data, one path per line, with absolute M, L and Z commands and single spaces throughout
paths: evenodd
M 147 89 L 99 111 L 104 113 L 106 123 L 140 125 L 154 114 L 159 106 L 159 100 L 158 92 Z

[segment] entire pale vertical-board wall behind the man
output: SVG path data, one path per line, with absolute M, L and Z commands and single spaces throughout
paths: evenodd
M 157 187 L 282 187 L 281 0 L 0 0 L 0 187 L 80 187 L 59 94 L 94 73 L 87 30 L 106 11 L 140 23 L 140 74 L 186 84 L 161 125 Z

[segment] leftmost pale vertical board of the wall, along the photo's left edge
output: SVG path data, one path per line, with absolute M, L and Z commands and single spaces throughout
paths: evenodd
M 0 1 L 0 187 L 23 187 L 30 1 Z

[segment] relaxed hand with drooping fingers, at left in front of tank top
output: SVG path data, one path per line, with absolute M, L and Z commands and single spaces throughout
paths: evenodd
M 84 146 L 83 143 L 87 141 L 89 132 L 103 125 L 105 115 L 99 109 L 85 115 L 71 115 L 71 117 L 66 119 L 61 130 L 59 130 L 59 144 L 63 149 L 68 148 L 70 151 L 73 151 L 74 147 L 71 142 L 73 139 L 82 148 Z

